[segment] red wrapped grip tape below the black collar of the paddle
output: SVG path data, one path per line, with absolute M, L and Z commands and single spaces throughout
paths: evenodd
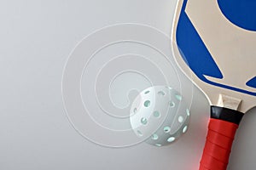
M 210 119 L 199 170 L 226 170 L 238 125 Z

